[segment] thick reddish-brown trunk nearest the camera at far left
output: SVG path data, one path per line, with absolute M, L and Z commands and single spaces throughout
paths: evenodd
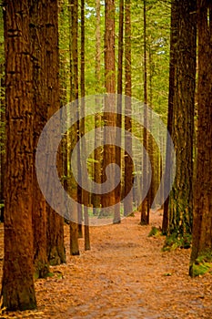
M 5 1 L 5 260 L 2 292 L 8 310 L 35 309 L 33 281 L 33 69 L 29 4 Z

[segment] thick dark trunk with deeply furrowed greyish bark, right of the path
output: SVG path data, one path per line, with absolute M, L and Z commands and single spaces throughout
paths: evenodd
M 175 4 L 174 4 L 175 5 Z M 196 1 L 176 1 L 178 15 L 176 91 L 172 139 L 176 149 L 176 179 L 169 198 L 169 232 L 192 231 L 193 137 L 196 87 Z

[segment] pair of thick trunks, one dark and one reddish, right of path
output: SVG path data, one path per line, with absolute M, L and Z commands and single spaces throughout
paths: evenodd
M 211 260 L 212 253 L 211 161 L 208 160 L 211 80 L 207 67 L 211 63 L 211 9 L 207 1 L 176 0 L 171 10 L 167 129 L 175 145 L 177 166 L 174 185 L 164 205 L 162 228 L 168 236 L 182 239 L 183 247 L 187 247 L 192 234 L 190 275 L 195 274 L 197 259 Z M 194 144 L 196 127 L 197 145 Z M 172 156 L 167 145 L 167 184 Z

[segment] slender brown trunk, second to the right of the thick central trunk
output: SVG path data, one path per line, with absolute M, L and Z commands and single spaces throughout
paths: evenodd
M 131 80 L 131 1 L 126 0 L 125 3 L 125 70 L 126 70 L 126 97 L 132 95 L 132 80 Z M 126 98 L 125 100 L 125 130 L 129 133 L 132 132 L 131 123 L 131 100 Z M 128 149 L 132 153 L 132 138 L 130 135 L 125 136 L 125 149 Z M 133 162 L 130 155 L 125 152 L 125 197 L 128 195 L 127 200 L 124 204 L 124 214 L 128 215 L 133 211 L 133 196 L 128 193 L 133 186 Z

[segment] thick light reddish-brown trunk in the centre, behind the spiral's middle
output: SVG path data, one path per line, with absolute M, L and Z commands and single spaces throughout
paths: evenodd
M 116 92 L 116 74 L 115 74 L 115 1 L 106 0 L 106 17 L 105 17 L 105 77 L 106 93 Z M 105 115 L 104 122 L 107 127 L 114 126 L 116 123 L 116 101 L 111 95 L 105 98 Z M 106 167 L 116 162 L 116 148 L 114 146 L 112 133 L 104 134 L 104 160 L 103 160 L 103 182 L 106 181 Z M 111 174 L 115 176 L 115 173 Z M 116 193 L 113 188 L 115 179 L 109 181 L 112 185 L 110 192 L 103 194 L 102 207 L 104 208 L 116 204 Z M 114 211 L 111 211 L 111 213 Z

